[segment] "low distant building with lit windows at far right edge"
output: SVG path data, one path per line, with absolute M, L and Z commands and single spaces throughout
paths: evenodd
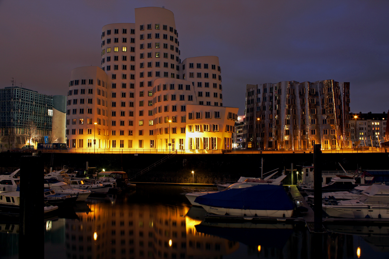
M 350 113 L 353 146 L 375 146 L 385 142 L 387 113 Z

